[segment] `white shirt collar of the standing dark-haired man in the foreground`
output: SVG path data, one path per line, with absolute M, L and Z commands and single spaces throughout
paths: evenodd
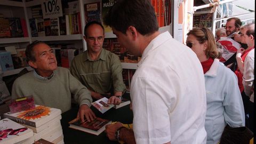
M 143 62 L 143 60 L 145 60 L 145 58 L 147 58 L 147 55 L 155 50 L 159 45 L 161 45 L 162 43 L 164 43 L 165 41 L 167 41 L 168 39 L 172 38 L 172 36 L 170 35 L 170 33 L 168 31 L 165 31 L 164 33 L 158 35 L 157 37 L 155 37 L 146 47 L 146 49 L 143 51 L 142 56 L 141 56 L 141 60 L 138 63 L 138 66 L 141 65 L 141 63 Z

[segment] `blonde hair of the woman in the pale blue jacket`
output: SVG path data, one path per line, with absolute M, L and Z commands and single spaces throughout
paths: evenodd
M 194 35 L 197 41 L 201 44 L 207 42 L 207 49 L 205 50 L 205 55 L 207 58 L 218 58 L 219 51 L 217 49 L 215 38 L 212 34 L 212 31 L 207 28 L 193 28 L 188 32 L 187 35 Z

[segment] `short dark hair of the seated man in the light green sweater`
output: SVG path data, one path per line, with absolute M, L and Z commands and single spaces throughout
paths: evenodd
M 27 47 L 26 47 L 26 51 L 25 51 L 25 54 L 26 54 L 26 60 L 27 62 L 29 62 L 30 60 L 31 61 L 36 61 L 36 58 L 35 58 L 35 53 L 34 53 L 34 47 L 38 44 L 45 44 L 44 42 L 42 41 L 34 41 L 32 42 L 31 44 L 29 44 Z

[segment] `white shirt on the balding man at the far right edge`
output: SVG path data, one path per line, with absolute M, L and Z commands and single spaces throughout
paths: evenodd
M 243 86 L 244 92 L 250 97 L 250 101 L 254 102 L 254 49 L 252 49 L 244 60 Z

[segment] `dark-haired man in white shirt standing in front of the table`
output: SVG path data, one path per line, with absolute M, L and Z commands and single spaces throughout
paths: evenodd
M 204 75 L 195 53 L 169 32 L 160 34 L 150 1 L 117 1 L 104 22 L 124 47 L 142 56 L 131 82 L 133 131 L 108 125 L 108 138 L 206 143 Z

